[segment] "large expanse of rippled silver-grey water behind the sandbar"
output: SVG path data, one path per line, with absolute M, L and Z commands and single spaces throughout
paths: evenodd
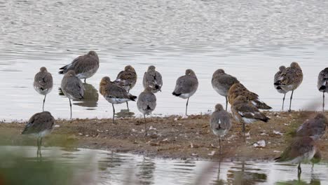
M 127 64 L 139 76 L 134 95 L 142 91 L 146 68 L 156 65 L 164 84 L 153 113 L 168 115 L 184 113 L 186 101 L 171 93 L 187 68 L 200 81 L 189 113 L 225 103 L 210 83 L 219 68 L 280 110 L 282 94 L 273 88 L 273 76 L 280 65 L 298 61 L 304 79 L 292 108 L 319 110 L 316 81 L 327 67 L 327 9 L 324 0 L 0 1 L 0 118 L 27 120 L 41 111 L 43 97 L 32 87 L 41 66 L 55 81 L 46 110 L 69 118 L 69 102 L 57 90 L 62 79 L 57 71 L 88 50 L 99 54 L 100 69 L 87 81 L 87 102 L 75 102 L 74 118 L 111 117 L 110 104 L 97 95 L 98 84 L 102 76 L 115 78 Z M 135 103 L 130 108 L 139 114 Z

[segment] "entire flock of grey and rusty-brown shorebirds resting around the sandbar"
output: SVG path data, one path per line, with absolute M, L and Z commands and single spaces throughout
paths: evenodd
M 60 88 L 69 99 L 71 111 L 71 100 L 83 99 L 83 83 L 81 79 L 90 78 L 99 68 L 99 58 L 95 51 L 91 50 L 86 55 L 76 57 L 70 64 L 60 68 L 59 74 L 64 74 Z M 100 94 L 103 95 L 113 107 L 113 123 L 115 123 L 114 104 L 127 104 L 128 101 L 137 99 L 137 108 L 144 115 L 145 135 L 147 135 L 146 115 L 151 114 L 156 108 L 156 95 L 163 85 L 162 76 L 156 68 L 151 65 L 144 73 L 143 86 L 144 91 L 139 97 L 131 95 L 129 92 L 135 86 L 137 73 L 135 69 L 128 65 L 124 71 L 121 71 L 114 81 L 104 76 L 100 81 Z M 279 67 L 279 71 L 274 76 L 273 85 L 279 93 L 284 94 L 282 99 L 282 110 L 284 109 L 285 96 L 292 91 L 289 102 L 289 111 L 291 111 L 292 97 L 294 90 L 299 87 L 303 81 L 303 72 L 297 62 L 292 62 L 289 67 Z M 226 74 L 223 69 L 217 69 L 212 76 L 212 87 L 219 95 L 226 97 L 226 107 L 221 104 L 215 105 L 215 111 L 210 118 L 210 128 L 215 135 L 219 136 L 219 149 L 221 154 L 221 137 L 224 137 L 231 129 L 232 118 L 242 123 L 242 132 L 245 141 L 245 124 L 254 123 L 254 121 L 268 122 L 269 118 L 259 109 L 271 109 L 266 103 L 259 100 L 259 95 L 245 88 L 234 76 Z M 22 134 L 33 134 L 38 138 L 38 156 L 41 155 L 40 147 L 42 138 L 53 130 L 55 119 L 50 112 L 44 111 L 46 95 L 53 88 L 53 77 L 47 71 L 46 67 L 41 67 L 34 78 L 35 90 L 44 95 L 43 112 L 34 114 L 29 119 Z M 328 90 L 328 68 L 322 70 L 317 79 L 317 88 L 323 93 L 322 111 L 324 111 L 324 93 Z M 186 69 L 184 76 L 177 79 L 175 90 L 172 95 L 187 99 L 186 114 L 189 98 L 196 93 L 198 89 L 198 78 L 192 69 Z M 231 114 L 227 112 L 228 103 L 231 104 Z M 129 109 L 129 108 L 128 108 Z M 277 161 L 292 161 L 299 163 L 299 173 L 301 172 L 301 162 L 304 160 L 317 160 L 321 158 L 320 151 L 315 142 L 324 135 L 324 130 L 328 124 L 324 114 L 317 114 L 314 118 L 305 121 L 301 127 L 296 130 L 296 139 L 282 153 Z

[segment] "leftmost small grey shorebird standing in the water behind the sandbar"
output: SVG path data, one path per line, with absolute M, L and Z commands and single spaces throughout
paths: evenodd
M 47 94 L 53 89 L 53 76 L 47 71 L 46 67 L 41 67 L 39 73 L 34 76 L 34 89 L 40 95 L 44 95 L 42 111 L 44 111 L 44 102 Z

